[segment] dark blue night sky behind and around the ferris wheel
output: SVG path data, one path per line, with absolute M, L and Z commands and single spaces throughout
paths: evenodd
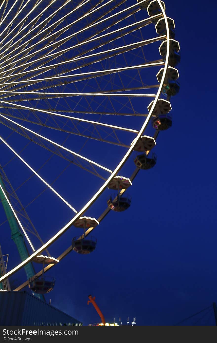
M 157 164 L 150 170 L 141 170 L 133 181 L 129 189 L 130 208 L 122 213 L 110 211 L 96 227 L 93 234 L 97 248 L 93 253 L 80 256 L 72 251 L 49 271 L 56 278 L 56 285 L 46 295 L 47 301 L 51 299 L 53 306 L 81 320 L 83 325 L 99 322 L 94 307 L 87 306 L 89 294 L 96 297 L 107 322 L 113 322 L 114 318 L 119 321 L 121 317 L 126 324 L 129 316 L 130 321 L 136 317 L 137 325 L 172 325 L 217 301 L 214 1 L 207 6 L 202 1 L 165 0 L 165 4 L 167 15 L 175 21 L 175 39 L 181 48 L 181 62 L 177 66 L 180 92 L 170 99 L 172 127 L 161 132 L 157 139 L 154 150 Z M 128 118 L 126 127 L 129 122 Z M 5 138 L 11 132 L 7 130 Z M 17 151 L 28 143 L 24 138 L 19 139 Z M 42 148 L 38 146 L 34 149 L 31 165 L 37 169 L 49 155 L 41 155 Z M 98 156 L 101 154 L 102 158 L 98 161 L 109 167 L 108 155 L 103 156 L 104 149 L 100 149 Z M 2 147 L 2 154 L 5 152 Z M 2 165 L 13 157 L 9 154 L 3 156 Z M 31 145 L 22 156 L 29 161 Z M 134 170 L 134 157 L 132 154 L 128 161 L 131 165 L 128 177 Z M 67 161 L 60 160 L 62 165 L 57 161 L 51 159 L 44 176 L 52 174 L 55 168 L 59 174 L 67 166 Z M 22 168 L 21 162 L 15 160 L 5 166 L 7 175 L 14 178 L 14 188 L 31 175 Z M 87 175 L 85 188 L 80 190 L 70 168 L 60 177 L 61 194 L 79 208 L 85 203 L 84 196 L 90 197 L 101 180 Z M 55 173 L 52 177 L 55 178 Z M 60 190 L 59 184 L 55 185 Z M 26 183 L 17 191 L 25 204 L 33 198 L 31 187 Z M 44 189 L 39 183 L 35 187 L 38 192 Z M 34 211 L 31 205 L 28 212 L 45 241 L 53 225 L 57 232 L 72 217 L 69 209 L 62 212 L 64 206 L 60 202 L 48 205 L 47 192 L 35 201 L 38 212 L 31 215 Z M 106 208 L 104 198 L 105 202 L 98 200 L 87 215 L 97 218 Z M 1 217 L 3 222 L 3 210 Z M 14 266 L 10 260 L 19 257 L 16 252 L 13 257 L 14 244 L 7 225 L 1 226 L 0 243 L 3 253 L 9 253 L 10 270 Z M 59 243 L 50 247 L 51 255 L 57 257 L 79 233 L 79 229 L 70 228 Z M 15 286 L 24 280 L 23 271 L 11 277 Z M 214 316 L 197 323 L 205 324 L 214 325 Z

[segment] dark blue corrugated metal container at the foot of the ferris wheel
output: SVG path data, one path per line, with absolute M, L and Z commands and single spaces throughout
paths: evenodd
M 0 325 L 82 325 L 26 291 L 0 292 Z

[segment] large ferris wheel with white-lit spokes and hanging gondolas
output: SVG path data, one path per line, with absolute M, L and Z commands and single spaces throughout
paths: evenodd
M 93 230 L 109 211 L 130 208 L 135 176 L 155 166 L 179 92 L 180 46 L 165 11 L 160 0 L 0 2 L 0 198 L 21 259 L 6 270 L 0 254 L 0 291 L 24 268 L 27 280 L 14 290 L 29 285 L 43 298 L 55 285 L 45 272 L 70 251 L 94 251 Z M 67 178 L 77 193 L 65 189 Z M 45 191 L 70 217 L 48 233 L 27 209 L 42 222 Z M 101 213 L 92 206 L 98 199 Z M 51 256 L 70 227 L 81 234 Z

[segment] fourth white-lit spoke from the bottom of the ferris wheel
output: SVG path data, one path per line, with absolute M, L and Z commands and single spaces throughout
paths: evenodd
M 13 106 L 16 107 L 16 104 L 9 103 L 7 101 L 0 100 L 0 103 L 9 104 L 9 105 L 13 105 Z M 79 121 L 83 121 L 85 123 L 91 123 L 91 124 L 94 124 L 94 125 L 101 125 L 101 126 L 109 127 L 109 128 L 112 128 L 112 129 L 117 129 L 117 130 L 122 130 L 122 131 L 138 133 L 138 130 L 128 129 L 128 128 L 124 128 L 124 127 L 120 127 L 120 126 L 116 126 L 116 125 L 110 125 L 110 124 L 101 123 L 101 122 L 93 121 L 93 120 L 87 120 L 87 119 L 83 119 L 83 118 L 76 118 L 76 117 L 66 116 L 66 115 L 63 115 L 63 114 L 59 114 L 59 113 L 55 113 L 55 112 L 50 112 L 50 111 L 46 111 L 46 110 L 38 110 L 37 108 L 34 108 L 34 107 L 23 106 L 23 105 L 17 105 L 17 107 L 26 108 L 26 109 L 30 109 L 30 110 L 38 111 L 38 112 L 43 112 L 43 113 L 46 113 L 46 114 L 49 114 L 49 115 L 53 115 L 53 116 L 59 116 L 59 117 L 63 117 L 63 118 L 79 120 Z

